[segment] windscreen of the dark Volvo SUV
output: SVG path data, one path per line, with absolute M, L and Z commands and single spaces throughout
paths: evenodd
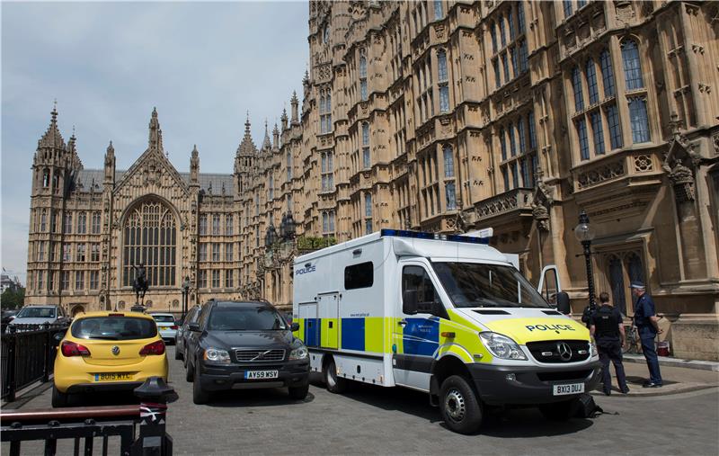
M 287 329 L 287 324 L 274 308 L 218 306 L 212 309 L 208 329 L 216 331 L 267 331 Z

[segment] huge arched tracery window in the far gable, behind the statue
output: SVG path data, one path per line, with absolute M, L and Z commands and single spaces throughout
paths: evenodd
M 144 264 L 151 287 L 173 286 L 177 229 L 172 210 L 146 200 L 129 210 L 123 225 L 122 285 L 135 280 L 133 265 Z

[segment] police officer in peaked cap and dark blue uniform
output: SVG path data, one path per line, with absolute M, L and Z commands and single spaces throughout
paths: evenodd
M 635 325 L 642 339 L 642 353 L 649 367 L 649 381 L 644 382 L 644 388 L 661 388 L 661 372 L 659 359 L 654 348 L 654 337 L 661 334 L 657 323 L 658 318 L 654 309 L 652 297 L 646 294 L 644 283 L 632 282 L 630 285 L 635 301 Z

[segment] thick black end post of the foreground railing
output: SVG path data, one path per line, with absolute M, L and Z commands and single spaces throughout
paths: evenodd
M 160 377 L 150 377 L 135 389 L 140 398 L 140 430 L 132 444 L 133 456 L 168 456 L 173 454 L 173 439 L 165 430 L 167 404 L 177 400 L 177 393 Z

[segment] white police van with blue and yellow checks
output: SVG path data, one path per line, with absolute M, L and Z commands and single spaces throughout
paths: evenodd
M 565 299 L 550 272 L 540 290 Z M 450 429 L 471 434 L 485 407 L 567 418 L 599 382 L 586 327 L 487 237 L 383 229 L 297 256 L 293 273 L 297 336 L 331 392 L 351 380 L 426 391 Z

